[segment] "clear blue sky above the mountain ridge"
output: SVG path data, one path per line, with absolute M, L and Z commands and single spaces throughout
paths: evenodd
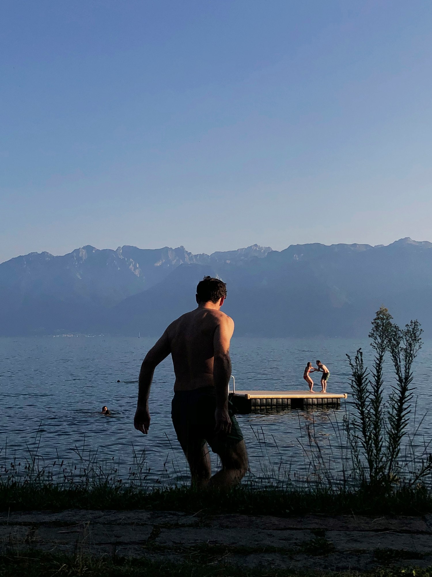
M 430 0 L 3 0 L 0 261 L 432 241 Z

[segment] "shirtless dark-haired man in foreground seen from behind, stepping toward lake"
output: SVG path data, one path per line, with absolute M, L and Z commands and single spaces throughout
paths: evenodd
M 198 487 L 228 488 L 240 482 L 248 469 L 243 436 L 228 401 L 234 322 L 220 310 L 225 298 L 225 283 L 204 277 L 196 287 L 198 308 L 166 328 L 146 354 L 139 373 L 134 426 L 147 434 L 154 369 L 171 354 L 176 376 L 171 417 L 191 469 L 192 484 Z M 213 477 L 207 443 L 222 463 Z

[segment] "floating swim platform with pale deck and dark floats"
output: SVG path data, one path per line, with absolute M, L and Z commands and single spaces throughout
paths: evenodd
M 261 411 L 305 409 L 306 407 L 340 407 L 346 393 L 309 391 L 236 391 L 229 398 L 240 414 Z

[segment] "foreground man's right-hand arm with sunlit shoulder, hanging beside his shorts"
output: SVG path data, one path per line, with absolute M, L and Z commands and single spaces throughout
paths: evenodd
M 231 430 L 231 419 L 228 414 L 228 382 L 231 376 L 229 343 L 233 332 L 234 321 L 228 316 L 222 317 L 214 332 L 213 382 L 216 392 L 215 432 L 217 433 L 229 433 Z

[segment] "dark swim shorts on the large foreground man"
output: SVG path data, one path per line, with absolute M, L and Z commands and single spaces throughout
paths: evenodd
M 191 447 L 202 448 L 209 443 L 218 455 L 237 445 L 242 439 L 240 426 L 228 401 L 231 419 L 230 433 L 215 433 L 216 394 L 214 387 L 202 387 L 194 391 L 176 391 L 171 403 L 171 418 L 181 448 L 186 453 Z

